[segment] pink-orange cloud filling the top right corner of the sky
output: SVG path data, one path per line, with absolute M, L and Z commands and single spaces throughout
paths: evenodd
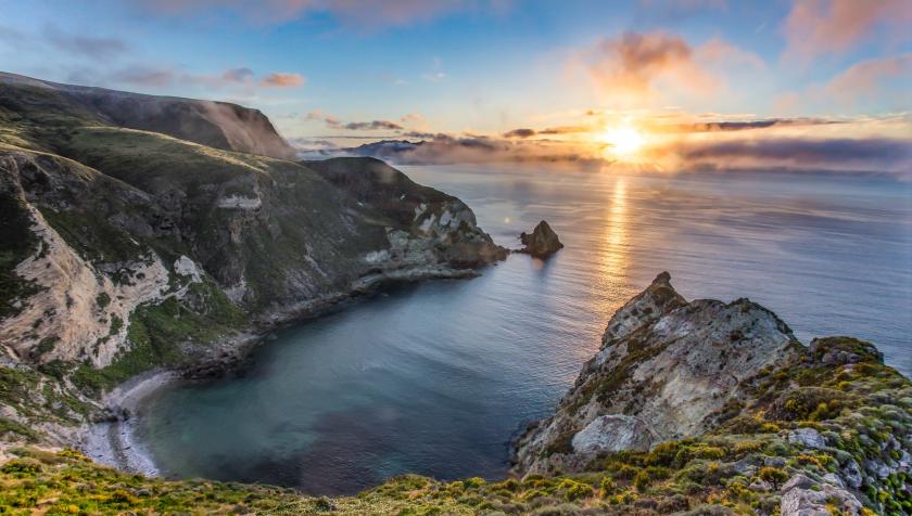
M 785 55 L 811 59 L 844 53 L 870 38 L 909 40 L 909 0 L 794 0 L 783 31 Z

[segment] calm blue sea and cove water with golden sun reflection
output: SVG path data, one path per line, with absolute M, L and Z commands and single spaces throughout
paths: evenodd
M 687 298 L 750 297 L 803 341 L 847 334 L 912 372 L 912 185 L 780 173 L 617 176 L 405 167 L 507 246 L 547 219 L 567 247 L 471 281 L 401 286 L 282 331 L 238 375 L 153 398 L 165 473 L 350 493 L 392 475 L 496 477 L 612 311 L 662 270 Z

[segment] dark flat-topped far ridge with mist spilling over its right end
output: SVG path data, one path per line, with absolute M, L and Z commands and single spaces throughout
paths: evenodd
M 54 92 L 55 107 L 94 118 L 103 125 L 161 132 L 226 151 L 290 159 L 294 150 L 259 111 L 227 102 L 156 96 L 85 86 L 61 85 L 0 72 L 0 83 L 28 87 L 29 95 L 8 102 L 48 100 L 36 91 Z M 25 91 L 25 90 L 21 90 Z

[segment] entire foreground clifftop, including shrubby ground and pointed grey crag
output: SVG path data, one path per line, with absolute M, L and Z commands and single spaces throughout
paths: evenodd
M 357 496 L 165 481 L 18 448 L 21 511 L 262 514 L 910 514 L 912 383 L 870 343 L 805 346 L 747 299 L 687 301 L 662 273 L 609 320 L 555 414 L 516 441 L 515 475 L 407 475 Z M 91 483 L 86 483 L 91 478 Z

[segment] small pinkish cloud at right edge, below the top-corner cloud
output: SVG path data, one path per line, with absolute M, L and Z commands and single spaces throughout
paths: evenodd
M 879 94 L 888 86 L 903 90 L 909 101 L 909 79 L 912 78 L 912 53 L 891 57 L 878 57 L 856 63 L 826 85 L 824 91 L 836 100 L 853 104 L 866 95 Z

